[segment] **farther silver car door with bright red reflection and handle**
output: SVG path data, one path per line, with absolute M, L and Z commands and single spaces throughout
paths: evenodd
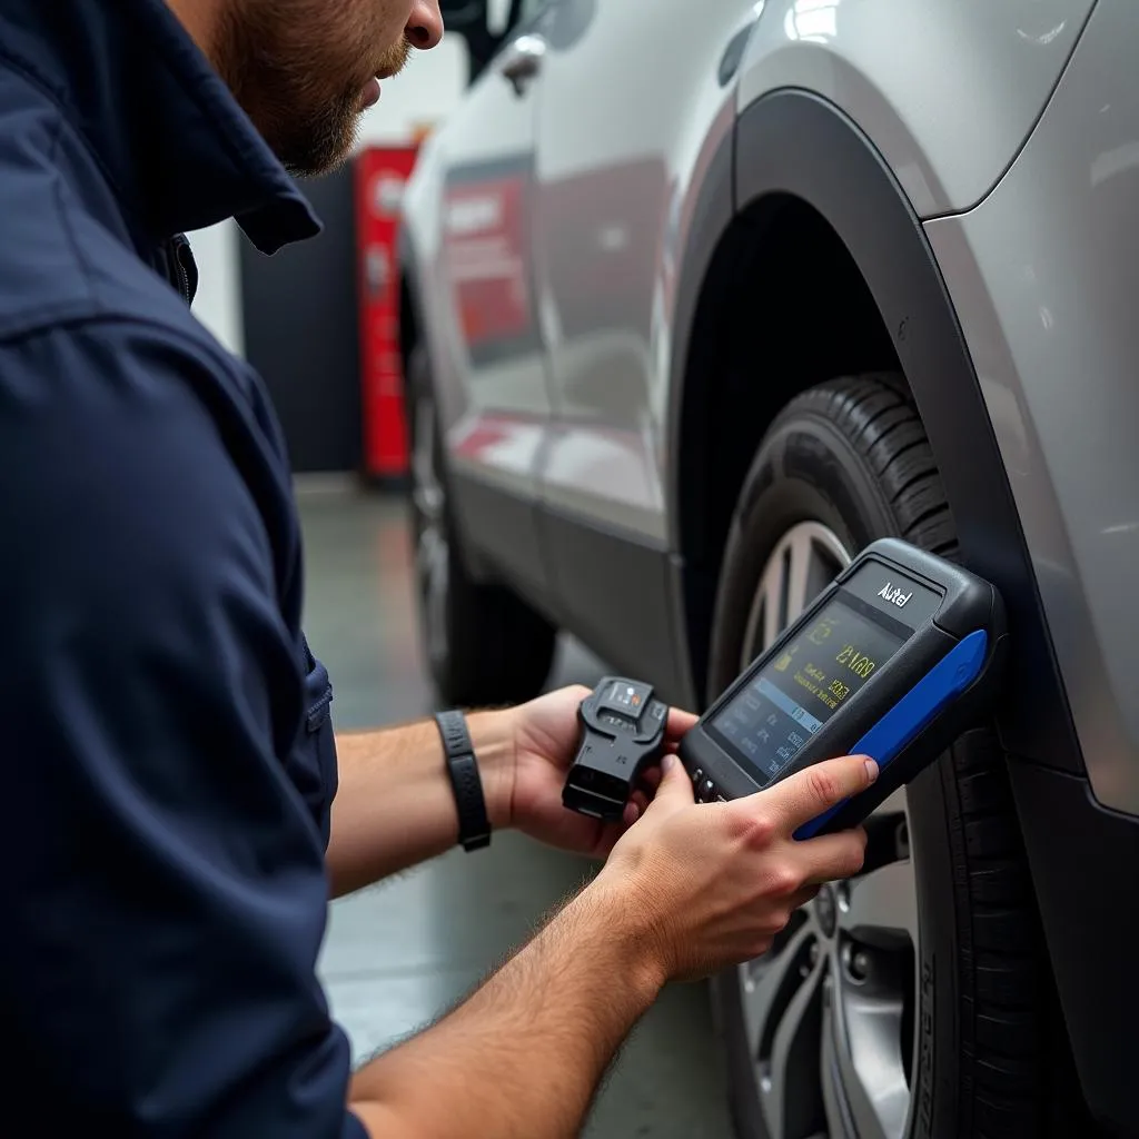
M 514 6 L 506 43 L 427 157 L 440 171 L 437 289 L 426 298 L 441 314 L 432 366 L 459 506 L 469 518 L 493 516 L 495 525 L 473 539 L 539 591 L 546 581 L 532 503 L 552 404 L 531 273 L 539 75 L 527 28 L 544 7 Z

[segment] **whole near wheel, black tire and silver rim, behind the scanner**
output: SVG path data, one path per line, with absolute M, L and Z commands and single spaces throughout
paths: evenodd
M 904 382 L 821 384 L 777 418 L 724 555 L 710 698 L 893 535 L 952 558 Z M 1005 756 L 980 728 L 867 823 L 863 872 L 713 985 L 746 1139 L 1041 1136 L 1049 982 Z

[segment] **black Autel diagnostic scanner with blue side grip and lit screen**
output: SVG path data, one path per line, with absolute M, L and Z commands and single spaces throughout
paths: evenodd
M 859 825 L 985 714 L 1007 640 L 992 584 L 874 542 L 685 735 L 696 797 L 738 798 L 820 760 L 869 755 L 878 779 L 796 837 Z

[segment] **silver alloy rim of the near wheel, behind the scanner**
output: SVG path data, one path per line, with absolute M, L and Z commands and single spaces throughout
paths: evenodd
M 746 666 L 851 562 L 816 522 L 793 526 L 760 576 Z M 744 1027 L 771 1139 L 901 1139 L 910 1114 L 917 888 L 903 792 L 866 823 L 863 872 L 825 886 L 740 967 Z

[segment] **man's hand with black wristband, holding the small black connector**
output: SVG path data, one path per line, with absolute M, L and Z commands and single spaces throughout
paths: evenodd
M 604 858 L 647 805 L 637 792 L 621 823 L 604 823 L 566 810 L 562 787 L 577 751 L 577 707 L 590 690 L 581 686 L 559 689 L 514 708 L 514 780 L 510 793 L 510 825 L 550 846 Z M 674 752 L 681 736 L 696 716 L 671 710 L 666 727 L 667 752 Z M 659 771 L 646 773 L 653 790 Z

